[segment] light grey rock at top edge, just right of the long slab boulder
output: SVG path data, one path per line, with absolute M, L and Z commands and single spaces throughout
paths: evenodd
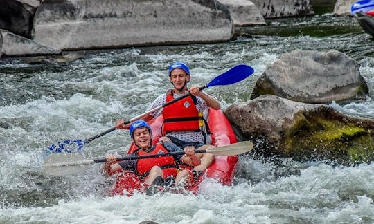
M 226 6 L 235 26 L 266 25 L 257 6 L 249 0 L 218 0 Z

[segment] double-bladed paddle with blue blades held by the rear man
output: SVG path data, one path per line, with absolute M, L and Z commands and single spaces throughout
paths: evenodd
M 218 75 L 213 80 L 211 80 L 211 82 L 208 82 L 208 84 L 205 84 L 205 86 L 200 87 L 200 90 L 202 90 L 204 88 L 209 88 L 211 86 L 226 86 L 226 85 L 229 85 L 229 84 L 234 84 L 236 82 L 240 82 L 240 81 L 244 80 L 246 77 L 248 77 L 249 75 L 252 75 L 253 72 L 254 72 L 254 70 L 253 70 L 253 68 L 251 68 L 251 66 L 247 66 L 245 64 L 237 65 L 237 66 L 229 69 L 228 71 L 222 73 L 221 75 Z M 155 107 L 154 109 L 152 109 L 148 112 L 145 112 L 145 113 L 143 113 L 143 114 L 141 114 L 141 115 L 139 115 L 135 118 L 127 120 L 124 124 L 130 124 L 131 122 L 134 122 L 135 120 L 139 120 L 140 118 L 143 118 L 145 115 L 153 113 L 154 111 L 158 111 L 159 109 L 161 109 L 165 106 L 168 106 L 172 103 L 175 103 L 178 100 L 184 99 L 185 97 L 188 97 L 189 95 L 190 95 L 190 93 L 188 93 L 188 94 L 186 94 L 182 97 L 179 97 L 177 99 L 171 100 L 171 101 L 169 101 L 166 104 L 163 104 L 161 106 L 157 106 L 157 107 Z M 64 140 L 62 142 L 57 142 L 57 144 L 52 144 L 50 147 L 48 147 L 48 149 L 49 149 L 49 152 L 53 152 L 53 153 L 62 153 L 62 152 L 71 153 L 73 151 L 80 151 L 80 149 L 82 149 L 84 144 L 87 144 L 88 142 L 91 142 L 92 140 L 94 140 L 96 138 L 99 138 L 101 136 L 104 136 L 105 134 L 107 134 L 109 132 L 112 132 L 114 130 L 116 130 L 116 128 L 112 127 L 111 129 L 107 129 L 107 131 L 103 131 L 101 133 L 98 133 L 98 134 L 96 134 L 96 136 L 92 136 L 91 138 L 87 138 L 85 140 L 77 139 L 77 140 Z

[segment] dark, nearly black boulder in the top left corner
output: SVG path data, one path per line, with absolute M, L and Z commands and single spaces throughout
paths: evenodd
M 39 0 L 1 0 L 0 29 L 30 38 L 38 6 Z

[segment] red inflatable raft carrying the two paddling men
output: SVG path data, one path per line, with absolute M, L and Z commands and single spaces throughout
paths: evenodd
M 162 123 L 162 116 L 150 122 L 154 136 L 154 143 L 156 143 L 161 136 Z M 212 133 L 211 138 L 213 145 L 224 146 L 237 142 L 235 133 L 233 133 L 233 129 L 231 128 L 231 124 L 221 110 L 209 109 L 208 124 Z M 136 147 L 132 145 L 129 153 L 132 153 L 132 151 L 135 149 Z M 237 163 L 238 156 L 215 156 L 213 163 L 210 167 L 208 167 L 205 175 L 200 176 L 195 185 L 189 187 L 187 190 L 196 194 L 199 189 L 199 184 L 206 177 L 215 178 L 216 180 L 220 181 L 222 185 L 231 185 L 233 176 L 235 175 Z M 123 171 L 116 174 L 116 183 L 111 194 L 127 194 L 128 196 L 131 196 L 134 191 L 143 192 L 144 190 L 145 187 L 143 187 L 141 180 L 139 180 L 139 178 L 132 171 Z

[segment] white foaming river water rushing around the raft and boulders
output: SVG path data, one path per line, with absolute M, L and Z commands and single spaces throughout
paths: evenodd
M 366 102 L 339 111 L 374 119 L 374 39 L 352 18 L 321 15 L 275 19 L 269 26 L 238 28 L 221 44 L 154 46 L 71 53 L 28 64 L 0 61 L 0 223 L 374 223 L 374 166 L 341 167 L 292 158 L 242 156 L 234 185 L 213 180 L 197 196 L 136 194 L 107 197 L 113 183 L 91 165 L 84 174 L 43 174 L 46 147 L 88 138 L 118 118 L 144 113 L 170 84 L 167 67 L 186 62 L 192 84 L 205 84 L 237 64 L 255 73 L 238 84 L 206 90 L 223 108 L 249 100 L 258 77 L 277 57 L 295 49 L 336 49 L 356 59 L 370 89 Z M 68 53 L 66 53 L 68 54 Z M 114 131 L 84 147 L 89 157 L 122 153 L 126 131 Z

